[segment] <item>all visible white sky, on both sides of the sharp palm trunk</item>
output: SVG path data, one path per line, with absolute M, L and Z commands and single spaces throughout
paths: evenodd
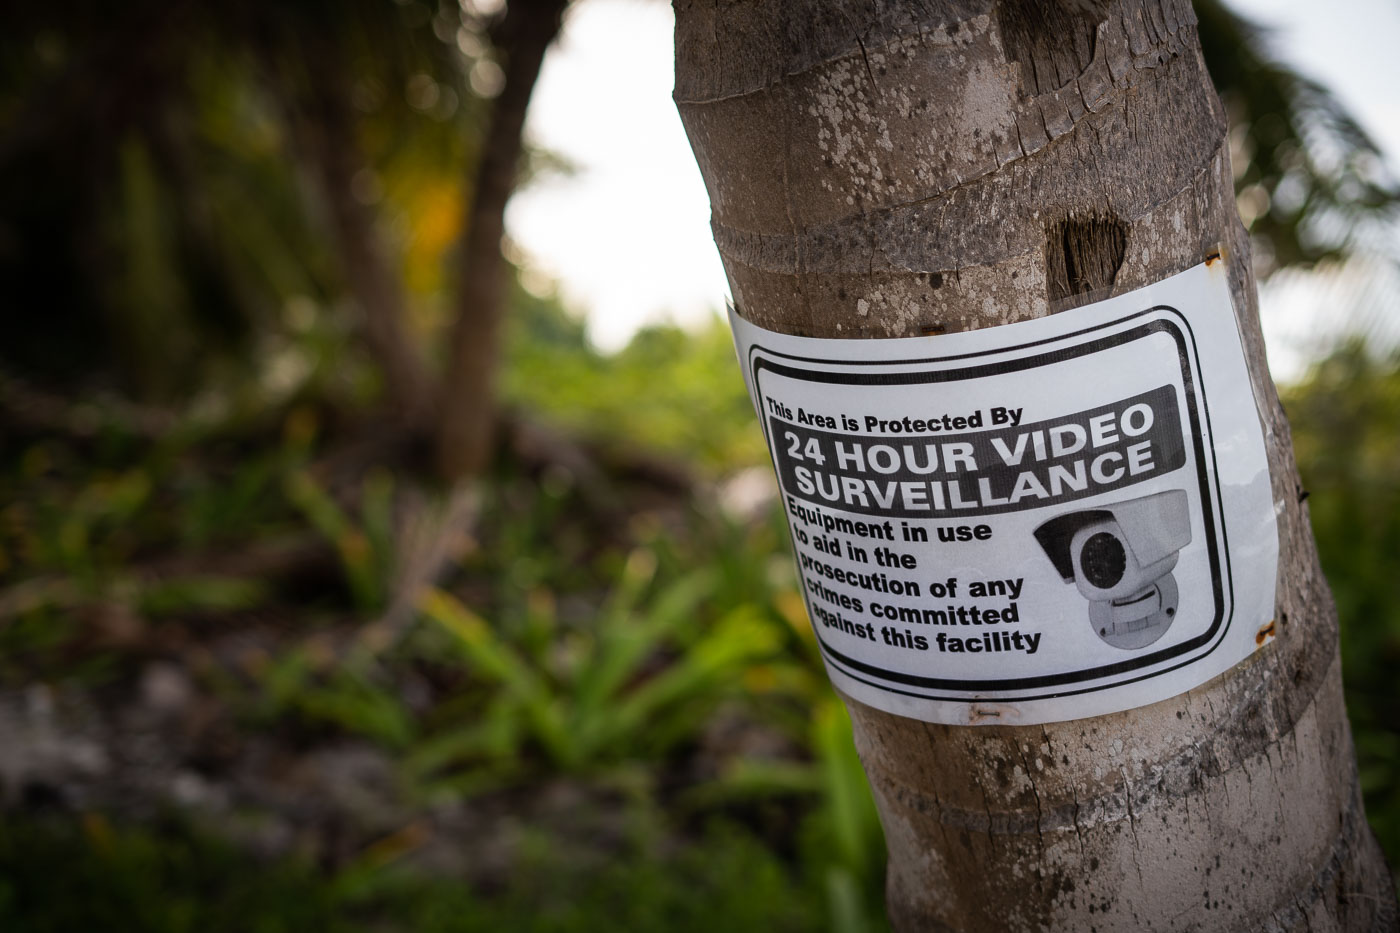
M 1277 55 L 1330 87 L 1400 170 L 1400 4 L 1233 6 L 1270 27 Z M 507 212 L 535 286 L 557 282 L 603 349 L 650 321 L 704 321 L 727 296 L 704 184 L 671 101 L 672 27 L 665 0 L 580 0 L 570 10 L 526 133 L 577 171 L 533 184 Z M 1326 343 L 1313 308 L 1348 289 L 1362 286 L 1294 275 L 1263 290 L 1275 377 L 1296 377 Z

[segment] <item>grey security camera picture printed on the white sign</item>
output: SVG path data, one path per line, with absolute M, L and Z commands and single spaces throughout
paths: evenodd
M 1191 544 L 1186 490 L 1057 516 L 1035 530 L 1065 583 L 1089 601 L 1093 632 L 1119 649 L 1156 642 L 1176 618 L 1172 569 Z

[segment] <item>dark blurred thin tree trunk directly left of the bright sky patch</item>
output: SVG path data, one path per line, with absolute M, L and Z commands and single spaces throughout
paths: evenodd
M 447 479 L 480 472 L 496 424 L 496 364 L 504 312 L 505 202 L 515 189 L 525 112 L 568 0 L 510 0 L 491 29 L 505 80 L 482 140 L 458 265 L 456 317 L 438 403 L 437 464 Z

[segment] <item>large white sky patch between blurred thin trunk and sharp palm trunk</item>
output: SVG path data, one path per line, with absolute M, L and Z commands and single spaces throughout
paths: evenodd
M 671 101 L 671 4 L 581 0 L 545 59 L 526 133 L 577 168 L 518 193 L 511 238 L 617 347 L 643 324 L 724 307 L 710 199 Z

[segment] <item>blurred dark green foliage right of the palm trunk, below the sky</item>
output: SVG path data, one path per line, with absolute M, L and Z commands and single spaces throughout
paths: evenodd
M 1400 357 L 1351 345 L 1284 394 L 1323 570 L 1341 616 L 1366 815 L 1400 856 Z

